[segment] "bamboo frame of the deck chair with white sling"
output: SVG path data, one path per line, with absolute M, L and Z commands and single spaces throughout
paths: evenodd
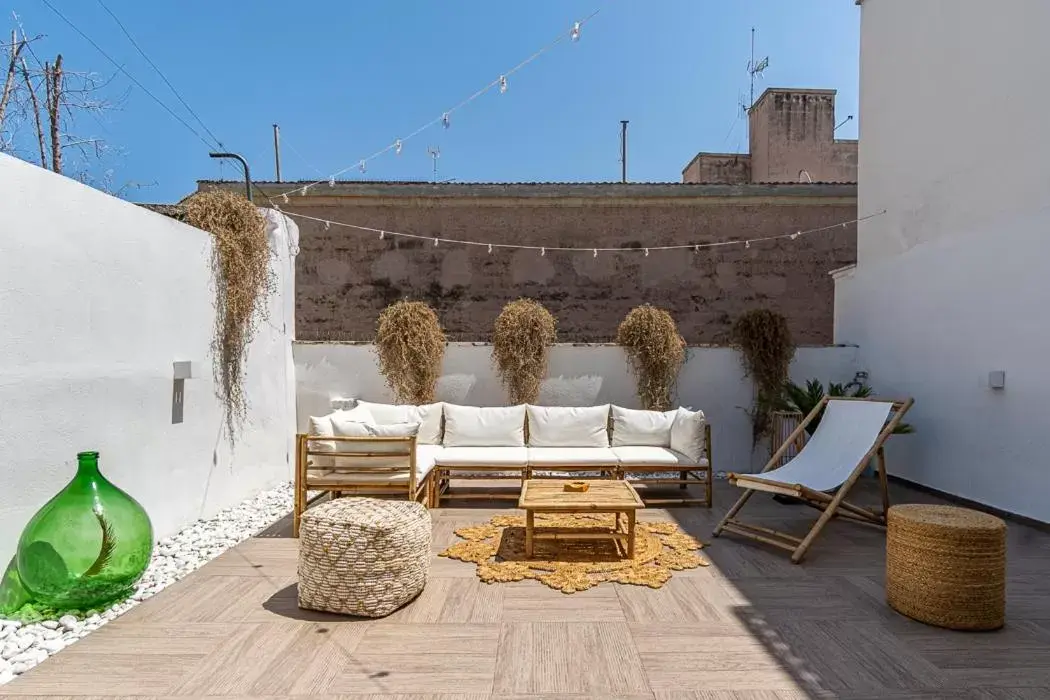
M 825 396 L 820 400 L 820 403 L 818 403 L 813 410 L 810 411 L 810 415 L 802 419 L 792 433 L 788 436 L 783 444 L 780 446 L 780 449 L 773 453 L 770 461 L 766 463 L 765 468 L 759 473 L 765 473 L 780 468 L 780 459 L 793 444 L 796 444 L 802 438 L 802 432 L 805 430 L 805 427 L 812 423 L 818 415 L 821 415 L 821 411 L 827 407 L 827 404 L 831 401 L 865 401 L 869 403 L 891 404 L 887 420 L 883 425 L 882 430 L 879 432 L 867 452 L 865 452 L 860 461 L 854 465 L 853 470 L 849 472 L 849 476 L 839 485 L 834 493 L 827 493 L 824 491 L 816 491 L 801 484 L 789 484 L 757 479 L 756 476 L 758 476 L 758 474 L 731 472 L 728 475 L 730 484 L 739 486 L 747 490 L 733 505 L 733 507 L 729 509 L 729 512 L 726 513 L 726 517 L 723 517 L 715 528 L 715 537 L 721 534 L 723 530 L 728 530 L 729 532 L 748 537 L 749 539 L 754 539 L 766 545 L 779 547 L 780 549 L 785 549 L 792 553 L 792 563 L 798 564 L 802 560 L 802 557 L 805 556 L 806 551 L 808 551 L 814 540 L 824 529 L 824 526 L 826 526 L 827 523 L 835 516 L 868 525 L 885 527 L 886 511 L 889 510 L 889 486 L 886 478 L 886 455 L 884 446 L 886 440 L 894 433 L 897 426 L 900 425 L 901 419 L 904 418 L 904 415 L 911 407 L 911 404 L 915 403 L 914 399 L 908 398 L 897 401 L 890 399 Z M 823 423 L 821 423 L 821 425 L 823 425 Z M 819 430 L 820 426 L 818 426 L 817 429 Z M 864 470 L 867 468 L 867 465 L 870 463 L 873 458 L 877 460 L 879 489 L 882 495 L 881 510 L 863 508 L 846 501 L 846 495 L 848 495 L 849 490 L 857 483 L 857 480 L 860 479 L 860 475 L 864 473 Z M 817 518 L 817 522 L 814 523 L 813 527 L 804 537 L 796 537 L 795 535 L 784 532 L 744 523 L 737 518 L 736 514 L 741 508 L 743 508 L 743 505 L 748 503 L 748 500 L 751 499 L 751 496 L 757 491 L 789 495 L 798 499 L 803 504 L 820 510 L 820 517 Z

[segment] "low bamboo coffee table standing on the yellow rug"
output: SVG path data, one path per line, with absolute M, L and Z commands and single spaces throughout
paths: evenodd
M 634 556 L 635 514 L 645 504 L 634 487 L 622 480 L 587 481 L 586 491 L 566 491 L 570 481 L 529 479 L 522 485 L 518 507 L 525 511 L 525 556 L 531 557 L 536 539 L 612 539 L 626 543 L 627 558 Z M 614 513 L 615 524 L 607 531 L 574 532 L 570 528 L 536 530 L 537 513 Z M 621 529 L 621 515 L 626 528 Z

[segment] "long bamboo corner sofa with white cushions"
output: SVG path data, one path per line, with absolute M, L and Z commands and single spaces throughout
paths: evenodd
M 701 411 L 600 406 L 421 406 L 355 402 L 310 418 L 297 436 L 295 530 L 308 494 L 518 499 L 526 479 L 587 472 L 686 490 L 702 497 L 647 499 L 711 506 L 711 426 Z M 456 489 L 452 480 L 504 480 L 514 488 Z

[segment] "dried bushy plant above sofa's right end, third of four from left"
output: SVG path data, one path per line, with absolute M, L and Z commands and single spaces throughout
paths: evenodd
M 632 309 L 616 331 L 616 343 L 627 354 L 643 408 L 669 410 L 686 361 L 686 341 L 671 315 L 650 304 Z

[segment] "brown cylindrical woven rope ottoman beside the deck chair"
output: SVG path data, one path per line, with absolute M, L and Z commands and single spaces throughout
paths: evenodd
M 950 630 L 1006 621 L 1006 524 L 954 506 L 894 506 L 886 528 L 886 601 Z

